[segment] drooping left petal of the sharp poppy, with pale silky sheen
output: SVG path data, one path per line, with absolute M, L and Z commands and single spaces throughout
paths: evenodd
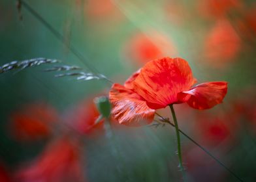
M 109 92 L 112 116 L 121 124 L 146 125 L 153 121 L 155 110 L 146 105 L 138 94 L 122 85 L 114 84 Z

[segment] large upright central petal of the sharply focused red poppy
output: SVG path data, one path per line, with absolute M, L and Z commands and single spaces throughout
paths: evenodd
M 181 58 L 148 62 L 133 82 L 133 90 L 144 98 L 152 109 L 180 103 L 177 94 L 189 90 L 195 78 L 187 61 Z

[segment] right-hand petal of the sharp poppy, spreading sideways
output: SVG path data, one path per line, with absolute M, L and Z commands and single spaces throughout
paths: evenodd
M 227 82 L 219 81 L 199 84 L 188 91 L 181 92 L 178 98 L 187 100 L 189 106 L 195 109 L 210 109 L 221 103 L 226 94 Z

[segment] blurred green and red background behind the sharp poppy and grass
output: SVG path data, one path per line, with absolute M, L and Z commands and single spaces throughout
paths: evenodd
M 123 83 L 168 56 L 187 60 L 199 83 L 228 81 L 214 109 L 175 105 L 178 122 L 235 175 L 256 181 L 255 1 L 17 2 L 0 0 L 1 65 L 46 57 Z M 182 181 L 172 127 L 95 124 L 93 98 L 111 85 L 56 78 L 44 72 L 51 66 L 0 75 L 0 181 Z M 188 181 L 238 181 L 184 136 L 182 152 Z

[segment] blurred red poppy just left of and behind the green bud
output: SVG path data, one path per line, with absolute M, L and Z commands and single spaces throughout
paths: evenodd
M 97 135 L 103 133 L 103 120 L 97 121 L 100 113 L 93 99 L 86 99 L 69 110 L 63 120 L 79 133 Z

